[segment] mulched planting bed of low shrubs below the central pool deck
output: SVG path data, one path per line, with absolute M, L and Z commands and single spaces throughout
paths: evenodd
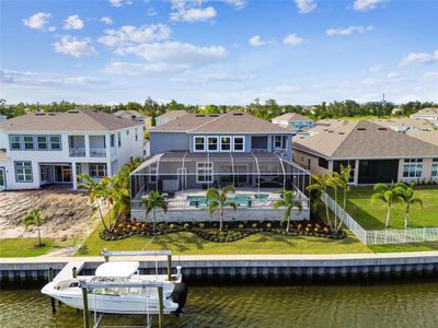
M 269 232 L 284 236 L 313 236 L 332 239 L 346 237 L 344 231 L 334 233 L 330 226 L 320 221 L 291 222 L 290 229 L 286 232 L 285 224 L 278 221 L 233 221 L 226 222 L 223 230 L 219 231 L 218 222 L 183 222 L 183 223 L 159 223 L 153 230 L 152 223 L 125 221 L 116 225 L 108 232 L 100 233 L 104 241 L 120 241 L 130 236 L 159 236 L 177 232 L 192 232 L 205 241 L 214 243 L 231 243 L 243 239 L 256 233 Z

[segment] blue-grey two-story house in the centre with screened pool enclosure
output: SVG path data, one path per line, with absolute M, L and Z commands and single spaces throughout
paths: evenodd
M 280 219 L 283 211 L 273 212 L 273 202 L 283 188 L 295 190 L 303 202 L 303 212 L 295 212 L 295 219 L 309 219 L 304 192 L 310 175 L 290 161 L 292 134 L 239 110 L 186 114 L 152 128 L 151 156 L 131 174 L 132 218 L 145 219 L 141 199 L 158 190 L 169 197 L 165 220 L 209 220 L 206 190 L 233 185 L 237 194 L 231 197 L 240 208 L 227 211 L 229 219 Z

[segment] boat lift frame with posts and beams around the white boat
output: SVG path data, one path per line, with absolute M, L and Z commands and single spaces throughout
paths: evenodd
M 158 259 L 159 256 L 166 256 L 168 257 L 168 281 L 172 281 L 172 251 L 171 250 L 141 250 L 141 251 L 110 251 L 103 249 L 101 255 L 104 257 L 105 262 L 110 261 L 110 258 L 113 256 L 154 256 L 155 257 L 155 274 L 158 277 Z M 177 267 L 177 272 L 180 273 L 181 268 Z M 82 290 L 82 301 L 83 301 L 83 328 L 90 328 L 90 320 L 89 320 L 89 294 L 88 291 L 96 288 L 141 288 L 141 289 L 149 289 L 149 288 L 157 288 L 158 289 L 158 298 L 159 298 L 159 320 L 158 327 L 162 328 L 164 323 L 164 301 L 163 301 L 163 282 L 162 281 L 139 281 L 139 282 L 92 282 L 92 281 L 80 281 L 79 288 Z M 93 328 L 103 327 L 101 326 L 102 319 L 104 314 L 97 313 L 94 309 L 94 323 Z M 128 327 L 128 326 L 124 326 Z M 138 326 L 135 326 L 138 327 Z M 147 313 L 147 328 L 152 327 L 152 316 Z

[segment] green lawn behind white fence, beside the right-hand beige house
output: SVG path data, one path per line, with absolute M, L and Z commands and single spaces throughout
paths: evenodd
M 382 203 L 371 204 L 372 188 L 351 188 L 348 192 L 347 212 L 366 230 L 384 229 L 387 207 Z M 417 186 L 415 194 L 423 200 L 424 207 L 413 206 L 411 209 L 411 227 L 438 226 L 438 187 Z M 342 197 L 338 202 L 342 203 Z M 404 227 L 404 206 L 395 204 L 391 214 L 391 227 Z

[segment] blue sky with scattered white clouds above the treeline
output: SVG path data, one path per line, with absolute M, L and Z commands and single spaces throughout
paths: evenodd
M 0 97 L 438 102 L 437 0 L 0 0 Z

